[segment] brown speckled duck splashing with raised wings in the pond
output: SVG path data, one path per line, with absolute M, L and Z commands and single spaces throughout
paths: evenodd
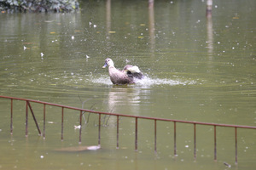
M 143 73 L 136 65 L 125 65 L 124 69 L 120 71 L 116 69 L 112 59 L 105 59 L 105 64 L 102 68 L 108 66 L 108 74 L 113 84 L 132 84 L 135 83 L 135 79 L 143 79 Z

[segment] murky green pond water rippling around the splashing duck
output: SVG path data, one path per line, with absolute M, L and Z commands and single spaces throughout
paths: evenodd
M 70 105 L 94 111 L 197 122 L 256 126 L 256 1 L 207 2 L 84 1 L 72 14 L 0 14 L 0 94 Z M 132 85 L 110 82 L 106 58 L 117 68 L 137 65 L 146 76 Z M 0 169 L 255 169 L 256 132 L 218 127 L 213 161 L 213 127 L 104 117 L 102 149 L 58 151 L 97 144 L 97 117 L 84 114 L 79 144 L 79 112 L 66 111 L 61 141 L 61 109 L 47 107 L 46 138 L 32 117 L 25 137 L 25 104 L 14 101 L 14 133 L 9 133 L 10 102 L 0 99 Z M 43 128 L 43 107 L 32 104 Z

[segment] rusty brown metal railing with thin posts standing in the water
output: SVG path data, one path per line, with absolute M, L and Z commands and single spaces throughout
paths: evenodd
M 43 101 L 38 101 L 38 100 L 33 100 L 33 99 L 20 99 L 20 98 L 15 98 L 15 97 L 9 97 L 9 96 L 1 96 L 0 98 L 3 99 L 10 99 L 10 133 L 13 133 L 13 100 L 23 100 L 26 102 L 26 137 L 28 134 L 28 109 L 32 113 L 33 120 L 36 124 L 36 127 L 38 128 L 38 133 L 39 135 L 42 135 L 41 130 L 38 126 L 37 119 L 33 113 L 32 110 L 32 103 L 38 103 L 44 105 L 44 129 L 43 129 L 43 137 L 45 139 L 45 105 L 52 105 L 55 107 L 61 107 L 61 140 L 63 140 L 63 127 L 64 127 L 64 109 L 69 109 L 69 110 L 74 110 L 74 111 L 79 111 L 79 124 L 82 126 L 82 116 L 83 112 L 88 112 L 88 113 L 94 113 L 98 114 L 98 144 L 101 144 L 101 116 L 102 115 L 108 115 L 108 116 L 116 116 L 117 118 L 117 136 L 116 136 L 116 147 L 117 149 L 119 148 L 119 117 L 130 117 L 135 119 L 135 150 L 137 150 L 137 139 L 138 139 L 138 119 L 146 119 L 146 120 L 152 120 L 154 121 L 154 152 L 157 152 L 157 122 L 173 122 L 173 140 L 174 140 L 174 155 L 177 155 L 177 123 L 189 123 L 194 125 L 194 158 L 196 159 L 196 125 L 203 125 L 203 126 L 212 126 L 214 127 L 214 161 L 217 161 L 217 130 L 216 127 L 233 127 L 235 129 L 235 161 L 237 163 L 237 128 L 247 128 L 247 129 L 256 129 L 256 127 L 252 126 L 242 126 L 242 125 L 230 125 L 230 124 L 219 124 L 219 123 L 209 123 L 209 122 L 192 122 L 192 121 L 182 121 L 182 120 L 174 120 L 174 119 L 165 119 L 165 118 L 157 118 L 157 117 L 148 117 L 148 116 L 131 116 L 131 115 L 122 115 L 122 114 L 117 114 L 117 113 L 108 113 L 108 112 L 102 112 L 102 111 L 90 111 L 86 109 L 80 109 L 77 107 L 71 107 L 67 105 L 57 105 L 57 104 L 51 104 L 48 102 L 43 102 Z M 81 135 L 82 135 L 82 128 L 79 129 L 79 143 L 81 143 Z

